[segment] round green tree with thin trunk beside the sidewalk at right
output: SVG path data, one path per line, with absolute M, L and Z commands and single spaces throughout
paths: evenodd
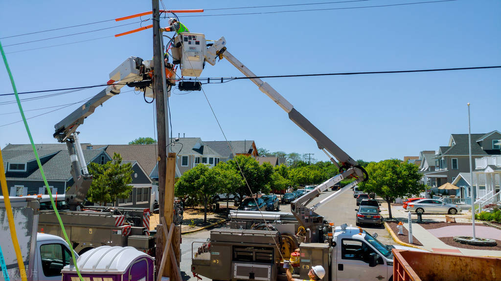
M 360 183 L 366 192 L 374 192 L 388 203 L 391 216 L 391 202 L 397 197 L 411 196 L 423 191 L 425 186 L 419 183 L 421 174 L 418 166 L 388 159 L 380 162 L 370 162 L 365 169 L 369 179 Z

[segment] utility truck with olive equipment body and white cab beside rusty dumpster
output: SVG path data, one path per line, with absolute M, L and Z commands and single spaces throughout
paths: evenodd
M 268 212 L 263 212 L 268 215 Z M 251 212 L 244 215 L 248 217 Z M 275 213 L 277 216 L 280 213 Z M 271 214 L 270 214 L 271 215 Z M 295 278 L 307 279 L 312 266 L 323 265 L 324 281 L 336 280 L 392 280 L 392 249 L 424 251 L 400 245 L 385 245 L 360 227 L 346 224 L 329 228 L 326 242 L 306 243 L 297 240 L 297 225 L 292 225 L 282 215 L 282 224 L 273 224 L 269 229 L 213 229 L 210 241 L 192 253 L 193 273 L 210 279 L 232 281 L 236 279 L 277 281 L 285 278 L 282 260 L 291 257 L 299 248 L 300 260 L 294 267 Z M 269 219 L 273 219 L 269 217 Z M 332 235 L 331 235 L 332 234 Z M 282 238 L 281 252 L 276 242 Z M 259 268 L 259 269 L 258 269 Z

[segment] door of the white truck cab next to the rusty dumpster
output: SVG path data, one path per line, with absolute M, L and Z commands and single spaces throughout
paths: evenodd
M 365 241 L 346 238 L 341 239 L 340 246 L 335 268 L 338 281 L 388 280 L 387 266 L 382 257 L 380 258 L 381 264 L 369 267 L 369 254 L 379 253 Z

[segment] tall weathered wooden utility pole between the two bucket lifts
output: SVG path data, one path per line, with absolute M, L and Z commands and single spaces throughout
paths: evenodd
M 165 121 L 165 92 L 164 79 L 161 69 L 164 67 L 163 61 L 163 45 L 162 33 L 160 32 L 160 11 L 158 0 L 151 1 L 153 15 L 153 80 L 154 80 L 154 97 L 157 112 L 157 132 L 158 132 L 158 204 L 159 213 L 163 214 L 165 207 L 165 174 L 167 166 L 167 122 Z M 172 204 L 173 202 L 170 202 Z M 160 267 L 160 261 L 163 255 L 163 234 L 162 228 L 157 229 L 156 235 L 156 268 Z M 159 272 L 162 274 L 162 272 Z

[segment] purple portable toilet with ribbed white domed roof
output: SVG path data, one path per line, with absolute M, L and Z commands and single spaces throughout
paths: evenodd
M 154 258 L 133 247 L 100 246 L 77 260 L 84 280 L 89 281 L 154 281 Z M 63 281 L 79 281 L 73 264 L 61 270 Z

